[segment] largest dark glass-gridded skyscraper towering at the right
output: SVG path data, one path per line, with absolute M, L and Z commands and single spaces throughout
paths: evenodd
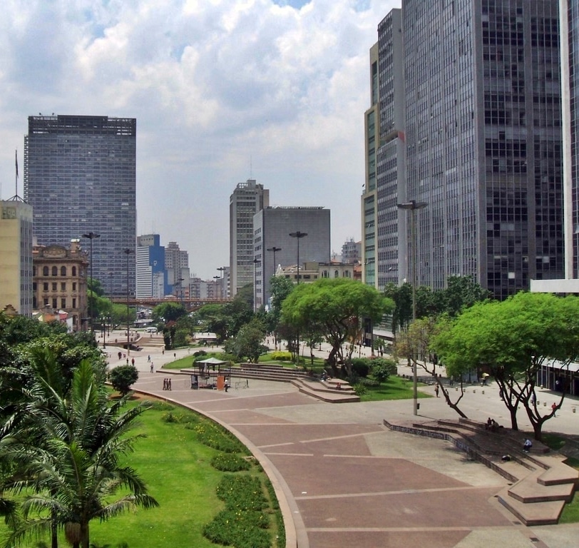
M 558 0 L 404 0 L 417 280 L 497 298 L 563 277 Z

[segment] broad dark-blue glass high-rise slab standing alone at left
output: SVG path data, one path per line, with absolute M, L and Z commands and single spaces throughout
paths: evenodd
M 123 250 L 135 252 L 136 126 L 135 118 L 29 116 L 24 138 L 24 200 L 34 208 L 36 240 L 68 245 L 100 235 L 90 268 L 111 296 L 135 291 L 135 255 L 127 276 Z

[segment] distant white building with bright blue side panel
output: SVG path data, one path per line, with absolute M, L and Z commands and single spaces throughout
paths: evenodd
M 165 248 L 160 235 L 145 234 L 137 238 L 137 298 L 162 299 L 169 293 Z

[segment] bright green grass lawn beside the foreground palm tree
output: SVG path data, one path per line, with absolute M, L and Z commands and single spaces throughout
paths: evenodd
M 135 443 L 135 452 L 129 455 L 128 462 L 146 482 L 159 507 L 138 509 L 103 523 L 94 520 L 91 522 L 91 544 L 111 548 L 123 543 L 128 548 L 215 547 L 203 537 L 202 529 L 224 507 L 215 490 L 224 472 L 210 465 L 211 458 L 219 452 L 198 442 L 195 430 L 190 427 L 162 420 L 170 409 L 178 415 L 190 414 L 194 421 L 206 420 L 164 403 L 141 415 L 141 425 L 134 432 L 143 432 L 146 437 Z M 236 474 L 256 475 L 264 483 L 267 480 L 258 465 L 253 465 L 250 472 Z M 275 519 L 271 520 L 270 530 L 275 537 Z M 5 525 L 1 522 L 0 537 L 4 531 Z M 19 546 L 36 548 L 40 544 L 31 541 Z M 68 546 L 63 538 L 60 546 Z

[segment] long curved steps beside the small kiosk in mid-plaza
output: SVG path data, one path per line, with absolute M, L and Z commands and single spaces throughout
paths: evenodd
M 229 373 L 232 388 L 247 387 L 249 380 L 273 380 L 277 382 L 291 382 L 297 387 L 299 392 L 307 394 L 329 403 L 349 403 L 359 402 L 360 398 L 354 389 L 345 380 L 328 379 L 321 381 L 312 377 L 308 372 L 292 367 L 284 367 L 276 364 L 242 363 L 241 365 L 227 368 L 227 370 L 205 370 L 204 374 L 209 377 L 217 377 Z M 187 368 L 180 370 L 185 375 L 195 375 L 199 373 L 197 368 Z M 247 380 L 247 383 L 236 381 L 236 378 Z

